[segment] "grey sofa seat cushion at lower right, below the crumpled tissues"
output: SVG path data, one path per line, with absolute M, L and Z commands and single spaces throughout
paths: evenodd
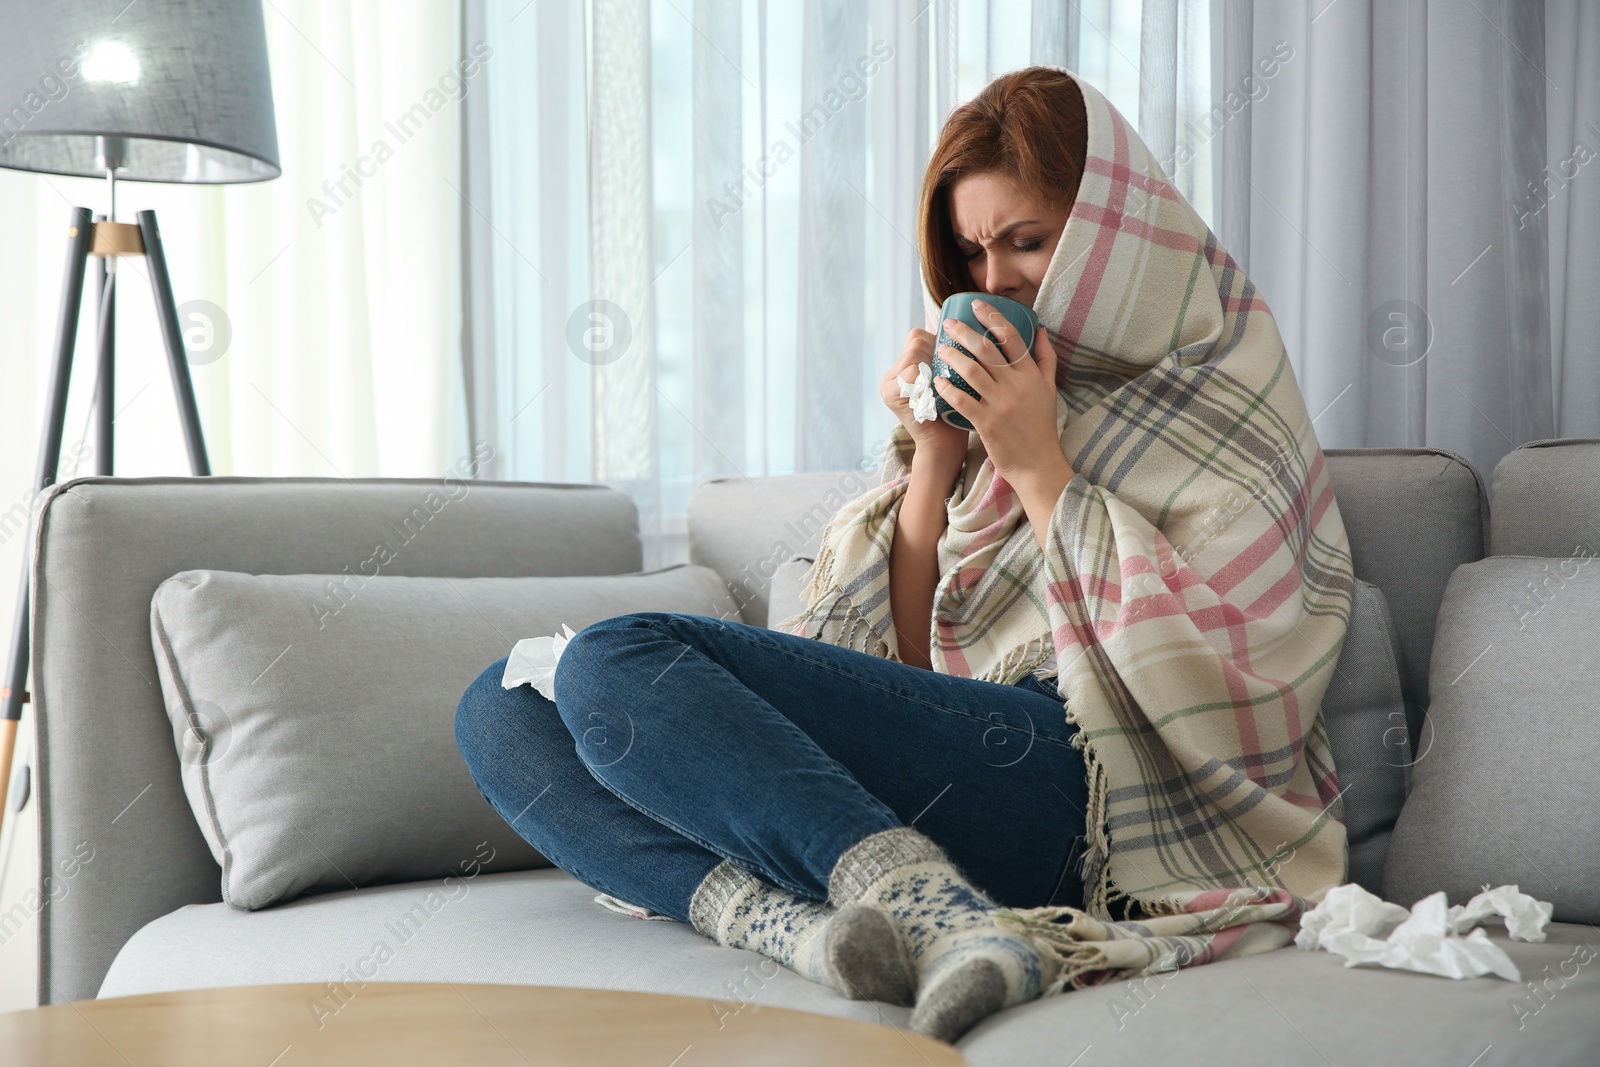
M 1458 982 L 1346 968 L 1326 952 L 1286 947 L 1022 1005 L 973 1029 L 962 1053 L 971 1064 L 1078 1067 L 1592 1067 L 1600 1033 L 1595 928 L 1552 923 L 1539 944 L 1510 941 L 1504 926 L 1483 929 L 1525 982 L 1541 982 L 1538 995 L 1498 977 Z

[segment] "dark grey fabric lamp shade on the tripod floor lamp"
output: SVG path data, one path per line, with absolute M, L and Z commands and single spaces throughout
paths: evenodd
M 261 0 L 0 0 L 0 166 L 277 178 Z

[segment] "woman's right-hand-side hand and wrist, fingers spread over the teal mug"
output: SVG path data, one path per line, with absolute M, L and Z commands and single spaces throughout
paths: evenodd
M 978 429 L 989 459 L 1022 498 L 1043 544 L 1051 509 L 1074 474 L 1056 434 L 1056 349 L 1050 331 L 1040 326 L 1030 357 L 1005 315 L 986 301 L 973 301 L 973 310 L 1000 346 L 966 323 L 946 318 L 944 333 L 978 358 L 950 346 L 939 355 L 982 400 L 973 400 L 946 378 L 934 378 L 933 387 Z

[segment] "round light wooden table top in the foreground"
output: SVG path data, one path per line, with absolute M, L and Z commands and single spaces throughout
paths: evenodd
M 354 992 L 352 992 L 354 990 Z M 966 1059 L 907 1030 L 739 1001 L 552 985 L 310 982 L 77 1000 L 0 1014 L 29 1067 L 709 1067 Z

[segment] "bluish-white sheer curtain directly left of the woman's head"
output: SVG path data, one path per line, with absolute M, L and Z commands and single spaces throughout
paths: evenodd
M 875 467 L 950 107 L 1080 56 L 1139 107 L 1138 5 L 467 0 L 466 18 L 506 58 L 467 118 L 486 205 L 467 219 L 469 432 L 502 445 L 494 477 L 627 490 L 648 565 L 685 558 L 706 477 Z

